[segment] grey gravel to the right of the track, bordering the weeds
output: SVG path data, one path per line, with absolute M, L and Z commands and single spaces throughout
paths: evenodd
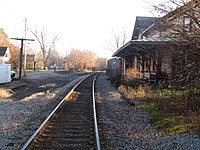
M 199 150 L 197 134 L 170 135 L 150 124 L 142 108 L 131 106 L 101 74 L 97 80 L 97 114 L 102 148 L 109 150 Z M 137 103 L 136 103 L 137 106 Z

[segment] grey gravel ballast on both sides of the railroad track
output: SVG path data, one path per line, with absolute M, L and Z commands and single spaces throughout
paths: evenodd
M 197 134 L 167 135 L 154 129 L 148 113 L 137 108 L 137 103 L 136 106 L 131 106 L 106 77 L 102 73 L 97 79 L 96 87 L 98 124 L 101 128 L 100 136 L 103 137 L 103 149 L 200 149 L 200 136 Z M 61 101 L 67 90 L 79 80 L 80 78 L 51 91 L 32 93 L 22 99 L 0 98 L 0 149 L 20 149 Z

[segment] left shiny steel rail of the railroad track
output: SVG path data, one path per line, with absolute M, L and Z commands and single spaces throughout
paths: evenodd
M 58 110 L 58 108 L 65 102 L 65 100 L 72 94 L 74 89 L 83 82 L 87 77 L 89 77 L 92 74 L 86 75 L 81 81 L 79 81 L 73 89 L 62 99 L 62 101 L 54 108 L 54 110 L 51 112 L 51 114 L 44 120 L 44 122 L 37 128 L 37 130 L 32 134 L 32 136 L 29 138 L 29 140 L 22 146 L 21 150 L 25 150 L 30 143 L 34 140 L 36 135 L 40 132 L 40 130 L 44 127 L 44 125 L 49 121 L 49 119 L 53 116 L 53 114 Z

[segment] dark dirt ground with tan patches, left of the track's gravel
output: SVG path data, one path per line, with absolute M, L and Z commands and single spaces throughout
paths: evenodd
M 10 98 L 13 101 L 23 99 L 38 92 L 51 92 L 66 83 L 84 75 L 68 71 L 45 71 L 26 73 L 21 80 L 0 85 L 0 98 Z

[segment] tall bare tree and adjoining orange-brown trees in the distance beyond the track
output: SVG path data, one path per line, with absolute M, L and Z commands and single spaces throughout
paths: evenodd
M 44 28 L 41 32 L 37 30 L 31 32 L 40 45 L 40 60 L 43 60 L 44 68 L 51 68 L 54 66 L 76 70 L 92 70 L 94 68 L 105 69 L 106 67 L 106 60 L 96 58 L 96 54 L 93 51 L 72 49 L 68 56 L 60 57 L 55 49 L 55 43 L 59 40 L 58 36 L 55 36 L 51 42 L 48 42 L 47 31 Z M 67 66 L 64 66 L 64 64 L 67 64 Z

